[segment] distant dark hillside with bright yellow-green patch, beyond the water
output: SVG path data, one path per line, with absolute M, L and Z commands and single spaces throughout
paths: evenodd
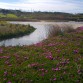
M 54 20 L 54 21 L 83 21 L 83 13 L 70 14 L 63 12 L 23 12 L 21 10 L 0 9 L 0 20 Z

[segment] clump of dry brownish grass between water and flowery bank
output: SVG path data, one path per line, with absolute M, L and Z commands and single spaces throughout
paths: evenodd
M 66 32 L 70 33 L 75 31 L 72 25 L 70 24 L 55 24 L 55 25 L 46 25 L 49 28 L 48 35 L 55 36 L 64 34 Z

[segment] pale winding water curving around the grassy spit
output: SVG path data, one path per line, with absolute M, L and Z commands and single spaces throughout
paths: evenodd
M 54 25 L 54 24 L 72 24 L 74 28 L 77 28 L 79 26 L 83 26 L 83 22 L 76 23 L 76 22 L 11 22 L 11 23 L 17 23 L 17 24 L 30 24 L 36 30 L 31 33 L 30 35 L 26 35 L 23 37 L 19 38 L 12 38 L 12 39 L 6 39 L 3 41 L 0 41 L 0 46 L 17 46 L 17 45 L 32 45 L 36 44 L 48 37 L 48 32 L 49 32 L 49 24 Z

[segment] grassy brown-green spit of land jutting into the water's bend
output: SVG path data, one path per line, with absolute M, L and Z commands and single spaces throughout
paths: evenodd
M 10 24 L 6 21 L 0 21 L 0 40 L 28 35 L 34 30 L 35 28 L 30 25 Z

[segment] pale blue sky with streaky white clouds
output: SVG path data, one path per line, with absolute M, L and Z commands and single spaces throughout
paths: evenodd
M 83 13 L 83 0 L 0 0 L 0 8 Z

